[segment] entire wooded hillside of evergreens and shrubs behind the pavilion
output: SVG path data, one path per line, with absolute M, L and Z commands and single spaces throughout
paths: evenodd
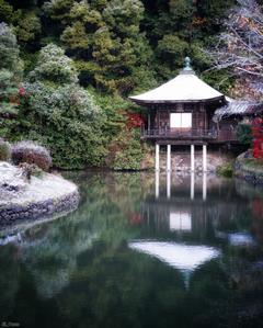
M 232 80 L 227 71 L 209 71 L 203 48 L 215 43 L 233 4 L 0 0 L 1 112 L 20 109 L 2 122 L 1 136 L 47 146 L 61 168 L 139 168 L 149 149 L 128 125 L 126 113 L 138 109 L 125 99 L 174 77 L 186 55 L 226 91 Z

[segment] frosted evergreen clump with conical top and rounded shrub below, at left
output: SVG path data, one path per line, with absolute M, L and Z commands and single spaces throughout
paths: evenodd
M 104 114 L 80 88 L 72 64 L 56 45 L 41 50 L 23 86 L 25 102 L 8 134 L 10 139 L 32 139 L 47 146 L 54 165 L 65 169 L 99 166 L 105 156 Z

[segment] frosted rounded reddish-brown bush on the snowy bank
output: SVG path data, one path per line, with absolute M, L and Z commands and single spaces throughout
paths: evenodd
M 52 167 L 52 157 L 49 151 L 33 142 L 19 142 L 12 147 L 12 161 L 14 165 L 27 162 L 36 165 L 44 171 Z

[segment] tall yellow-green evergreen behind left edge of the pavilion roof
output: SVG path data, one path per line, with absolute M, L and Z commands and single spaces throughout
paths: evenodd
M 140 33 L 144 16 L 141 1 L 49 1 L 44 4 L 47 15 L 61 20 L 65 29 L 60 39 L 76 60 L 83 84 L 127 94 L 141 83 L 153 82 L 149 71 L 152 53 Z

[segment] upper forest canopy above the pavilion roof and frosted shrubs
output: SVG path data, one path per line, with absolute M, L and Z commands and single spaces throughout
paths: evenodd
M 43 45 L 62 45 L 83 86 L 127 94 L 174 76 L 184 56 L 203 71 L 233 0 L 0 0 L 27 67 Z

